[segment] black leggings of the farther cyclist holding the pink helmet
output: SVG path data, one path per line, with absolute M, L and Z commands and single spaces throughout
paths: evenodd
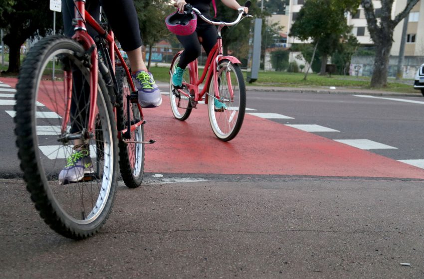
M 178 40 L 184 47 L 184 51 L 181 54 L 180 61 L 177 65 L 181 69 L 185 69 L 190 62 L 200 56 L 201 43 L 199 42 L 198 37 L 202 37 L 203 48 L 205 49 L 206 54 L 209 55 L 212 47 L 216 44 L 218 31 L 214 25 L 206 23 L 202 19 L 198 18 L 198 25 L 193 34 L 188 36 L 177 35 Z

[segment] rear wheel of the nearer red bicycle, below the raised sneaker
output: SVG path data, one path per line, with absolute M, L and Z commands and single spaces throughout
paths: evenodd
M 128 83 L 128 77 L 123 68 L 116 70 L 118 86 L 122 90 L 118 98 L 118 107 L 116 109 L 118 131 L 127 129 L 128 110 L 127 96 L 131 96 L 131 86 Z M 123 97 L 123 98 L 121 98 Z M 130 123 L 131 125 L 143 121 L 137 103 L 130 102 Z M 131 133 L 129 141 L 144 141 L 144 125 L 140 125 Z M 137 188 L 141 185 L 144 174 L 144 144 L 134 142 L 119 141 L 119 168 L 122 179 L 129 188 Z

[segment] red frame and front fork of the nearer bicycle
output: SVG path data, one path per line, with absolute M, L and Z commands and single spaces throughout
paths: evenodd
M 107 44 L 108 44 L 108 54 L 110 57 L 110 62 L 112 63 L 112 69 L 115 71 L 115 55 L 117 55 L 120 64 L 119 66 L 122 66 L 125 69 L 125 73 L 127 77 L 130 77 L 130 72 L 125 64 L 124 58 L 122 57 L 121 53 L 119 52 L 119 48 L 115 43 L 113 31 L 110 30 L 109 32 L 106 32 L 106 30 L 100 26 L 100 24 L 89 14 L 88 11 L 85 10 L 85 0 L 74 0 L 75 2 L 75 19 L 76 19 L 76 25 L 75 25 L 75 34 L 72 36 L 72 39 L 75 39 L 76 41 L 80 42 L 83 46 L 83 48 L 90 54 L 90 62 L 91 62 L 91 68 L 90 68 L 90 107 L 89 107 L 89 116 L 88 116 L 88 133 L 89 135 L 93 135 L 94 131 L 94 120 L 96 116 L 96 102 L 97 102 L 97 82 L 98 82 L 98 52 L 97 52 L 97 46 L 94 42 L 94 39 L 88 34 L 86 24 L 90 25 L 94 28 L 94 30 L 99 33 L 101 37 L 103 37 Z M 107 61 L 106 61 L 107 63 Z M 114 72 L 111 74 L 115 74 Z M 70 107 L 71 107 L 71 98 L 72 98 L 72 72 L 68 71 L 65 73 L 65 90 L 67 94 L 67 103 L 64 115 L 64 121 L 62 124 L 62 134 L 66 132 L 66 123 L 69 120 L 70 117 Z M 133 83 L 133 80 L 131 78 L 128 79 L 128 82 L 131 86 L 131 91 L 135 92 L 135 86 Z M 125 101 L 125 100 L 124 100 Z M 137 107 L 140 111 L 140 116 L 143 119 L 143 113 L 140 104 L 137 103 Z M 116 115 L 116 108 L 114 108 L 114 113 Z M 140 125 L 143 125 L 143 121 L 140 121 L 134 125 L 131 125 L 130 131 L 133 132 L 139 127 Z M 121 139 L 122 135 L 126 133 L 128 130 L 125 129 L 123 131 L 118 131 L 118 138 Z

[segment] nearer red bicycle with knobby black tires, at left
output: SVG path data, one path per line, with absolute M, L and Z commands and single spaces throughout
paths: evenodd
M 112 30 L 85 10 L 85 1 L 74 5 L 72 39 L 45 37 L 28 53 L 16 87 L 14 121 L 20 166 L 35 208 L 54 231 L 81 239 L 106 222 L 118 165 L 128 187 L 141 184 L 143 144 L 154 141 L 144 141 L 138 92 Z M 90 37 L 87 25 L 99 35 Z M 89 146 L 94 174 L 62 185 L 58 174 L 74 140 Z

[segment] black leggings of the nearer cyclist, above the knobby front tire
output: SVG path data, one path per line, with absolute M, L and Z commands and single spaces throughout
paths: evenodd
M 95 18 L 99 18 L 100 5 L 102 5 L 107 20 L 113 32 L 121 43 L 124 51 L 134 50 L 142 45 L 137 12 L 133 0 L 89 0 L 85 4 L 87 11 Z M 62 14 L 65 35 L 72 37 L 74 26 L 73 0 L 62 0 Z M 94 36 L 96 32 L 88 26 L 88 32 Z

